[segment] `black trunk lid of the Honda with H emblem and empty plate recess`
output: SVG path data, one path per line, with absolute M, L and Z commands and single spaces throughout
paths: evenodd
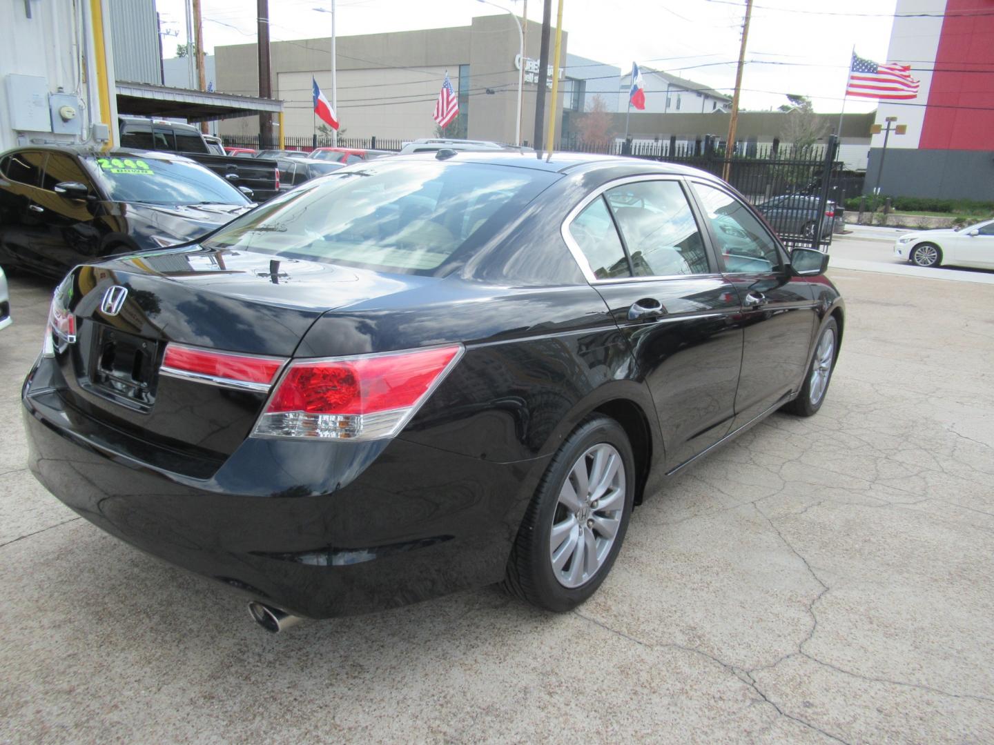
M 197 246 L 79 266 L 60 288 L 76 318 L 75 342 L 57 352 L 65 395 L 134 436 L 224 457 L 248 436 L 268 386 L 164 374 L 169 345 L 278 368 L 329 310 L 433 281 Z

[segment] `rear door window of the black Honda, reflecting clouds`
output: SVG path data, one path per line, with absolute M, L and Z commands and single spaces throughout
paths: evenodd
M 635 276 L 708 274 L 701 230 L 680 184 L 643 181 L 604 193 L 624 237 Z

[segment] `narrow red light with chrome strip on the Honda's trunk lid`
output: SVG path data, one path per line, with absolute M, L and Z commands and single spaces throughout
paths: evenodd
M 237 355 L 169 344 L 162 358 L 162 373 L 231 387 L 268 390 L 285 362 L 275 357 Z

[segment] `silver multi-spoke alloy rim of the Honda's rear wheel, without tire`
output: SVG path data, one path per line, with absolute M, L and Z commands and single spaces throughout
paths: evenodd
M 553 517 L 549 558 L 561 585 L 580 587 L 603 566 L 624 504 L 621 454 L 604 442 L 593 445 L 570 469 Z

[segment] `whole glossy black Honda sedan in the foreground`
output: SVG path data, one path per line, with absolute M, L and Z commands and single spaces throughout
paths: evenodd
M 680 166 L 357 164 L 74 269 L 24 383 L 30 466 L 270 630 L 492 582 L 564 611 L 664 477 L 818 410 L 826 264 Z

